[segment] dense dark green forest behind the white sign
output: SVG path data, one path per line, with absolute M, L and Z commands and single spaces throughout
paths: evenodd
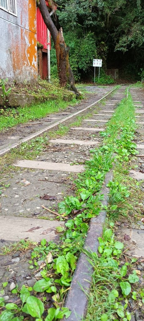
M 144 78 L 144 1 L 57 0 L 53 21 L 63 28 L 76 81 L 92 80 L 93 58 L 103 60 L 101 76 L 119 69 L 121 78 Z M 57 75 L 54 45 L 51 73 Z

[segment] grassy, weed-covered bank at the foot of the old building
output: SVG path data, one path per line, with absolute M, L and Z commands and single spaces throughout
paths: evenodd
M 7 85 L 5 92 L 5 95 L 8 95 L 10 92 L 30 94 L 36 97 L 38 102 L 29 107 L 11 108 L 7 104 L 3 105 L 0 108 L 0 131 L 20 123 L 23 124 L 34 119 L 40 119 L 53 112 L 64 110 L 69 104 L 76 104 L 75 95 L 69 93 L 64 88 L 60 88 L 57 81 L 54 84 L 50 84 L 45 80 L 39 79 L 35 84 L 20 86 L 17 84 L 17 86 L 12 88 L 9 88 Z

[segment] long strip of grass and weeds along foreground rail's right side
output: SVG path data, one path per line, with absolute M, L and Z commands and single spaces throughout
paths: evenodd
M 94 272 L 85 321 L 130 321 L 132 308 L 129 299 L 134 300 L 136 306 L 141 307 L 144 303 L 144 289 L 138 285 L 139 271 L 135 267 L 137 258 L 123 255 L 124 244 L 117 241 L 114 234 L 115 220 L 124 216 L 131 221 L 133 205 L 139 201 L 138 195 L 134 201 L 135 181 L 128 176 L 129 159 L 137 153 L 136 144 L 132 142 L 135 128 L 134 106 L 129 94 L 116 109 L 106 132 L 102 133 L 106 147 L 113 144 L 116 157 L 114 179 L 107 185 L 110 187 L 108 221 L 102 238 L 99 238 L 99 255 L 86 253 Z M 115 138 L 118 133 L 119 138 Z

